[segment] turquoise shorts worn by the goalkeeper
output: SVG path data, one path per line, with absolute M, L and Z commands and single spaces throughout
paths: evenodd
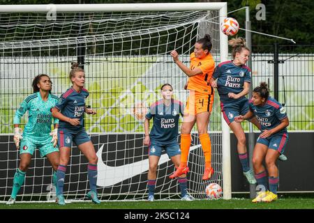
M 52 137 L 47 137 L 47 139 L 36 140 L 31 137 L 24 137 L 20 144 L 20 154 L 29 153 L 33 155 L 36 148 L 39 150 L 40 157 L 45 157 L 45 155 L 53 152 L 59 152 L 58 146 L 54 147 L 53 142 L 51 142 Z

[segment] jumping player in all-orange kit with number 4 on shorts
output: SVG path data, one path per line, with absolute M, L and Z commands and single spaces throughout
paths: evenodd
M 211 140 L 207 133 L 214 102 L 214 89 L 209 84 L 215 68 L 215 62 L 210 53 L 211 47 L 209 34 L 197 40 L 194 52 L 190 54 L 190 68 L 179 61 L 179 54 L 175 50 L 170 53 L 177 66 L 189 77 L 187 89 L 190 91 L 184 109 L 184 123 L 181 125 L 181 162 L 170 178 L 176 178 L 189 171 L 187 163 L 191 142 L 190 132 L 195 123 L 205 157 L 203 180 L 208 180 L 214 173 L 214 169 L 211 168 Z

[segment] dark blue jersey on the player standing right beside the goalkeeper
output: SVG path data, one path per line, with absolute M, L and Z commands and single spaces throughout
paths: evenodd
M 59 109 L 63 116 L 68 118 L 79 118 L 80 124 L 74 126 L 66 121 L 60 120 L 59 128 L 68 128 L 70 130 L 84 128 L 85 101 L 88 96 L 89 92 L 87 89 L 82 89 L 81 92 L 77 92 L 73 87 L 61 95 L 55 107 Z

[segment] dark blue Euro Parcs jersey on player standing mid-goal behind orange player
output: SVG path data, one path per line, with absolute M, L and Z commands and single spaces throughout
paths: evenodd
M 158 100 L 151 105 L 146 118 L 153 118 L 153 127 L 149 137 L 158 145 L 166 145 L 177 142 L 179 133 L 179 116 L 183 116 L 184 104 L 179 100 L 171 100 L 166 106 L 163 100 Z

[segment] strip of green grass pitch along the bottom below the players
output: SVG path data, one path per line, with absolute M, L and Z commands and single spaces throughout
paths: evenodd
M 251 203 L 251 199 L 198 200 L 198 201 L 103 201 L 99 205 L 91 202 L 73 202 L 66 206 L 56 203 L 15 203 L 0 209 L 314 209 L 314 199 L 285 197 L 271 203 Z

